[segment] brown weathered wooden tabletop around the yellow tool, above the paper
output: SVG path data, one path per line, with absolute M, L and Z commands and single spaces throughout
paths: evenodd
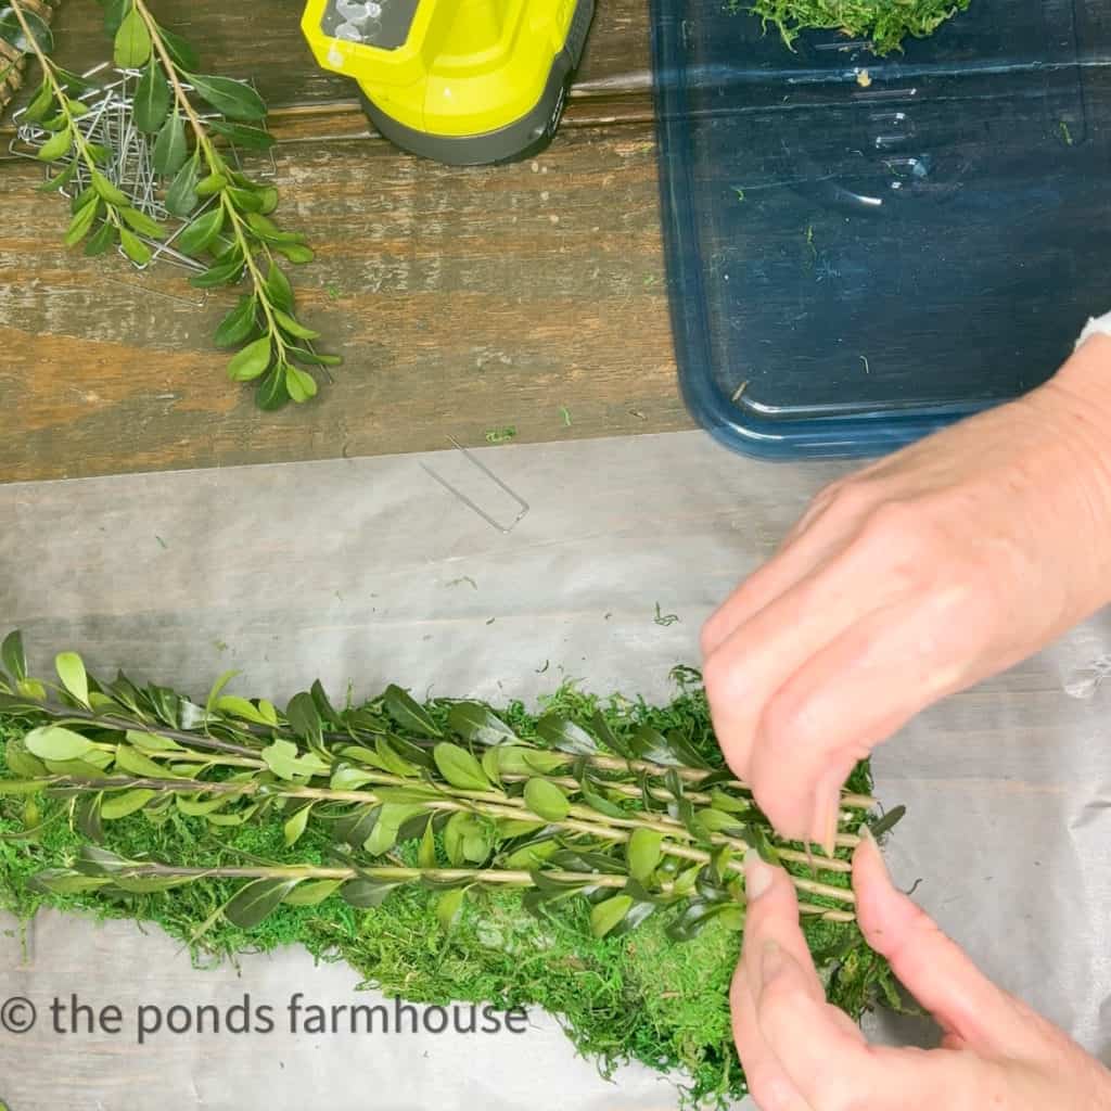
M 61 242 L 58 198 L 0 133 L 0 480 L 218 467 L 690 427 L 663 282 L 647 6 L 602 0 L 563 127 L 534 160 L 450 169 L 373 136 L 319 69 L 298 6 L 159 0 L 207 71 L 272 108 L 279 214 L 317 260 L 303 319 L 344 357 L 309 406 L 259 412 L 172 266 L 147 276 Z M 249 13 L 249 14 L 248 14 Z M 59 61 L 110 54 L 100 9 L 62 7 Z M 263 163 L 264 168 L 264 163 Z

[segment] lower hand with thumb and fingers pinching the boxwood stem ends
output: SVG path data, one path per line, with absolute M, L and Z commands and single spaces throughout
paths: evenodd
M 750 851 L 733 1037 L 761 1111 L 1099 1111 L 1111 1073 L 991 983 L 888 878 L 870 835 L 853 858 L 868 943 L 944 1031 L 937 1050 L 869 1045 L 825 1002 L 785 872 Z

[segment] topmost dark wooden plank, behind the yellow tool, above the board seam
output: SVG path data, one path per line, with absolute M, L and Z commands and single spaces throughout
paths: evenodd
M 207 71 L 250 74 L 274 108 L 351 101 L 351 82 L 317 66 L 301 34 L 303 4 L 289 0 L 162 0 L 159 19 L 202 50 Z M 643 93 L 649 71 L 648 6 L 600 0 L 579 70 L 581 94 Z M 63 4 L 56 20 L 59 58 L 74 69 L 104 60 L 101 9 L 89 0 Z

